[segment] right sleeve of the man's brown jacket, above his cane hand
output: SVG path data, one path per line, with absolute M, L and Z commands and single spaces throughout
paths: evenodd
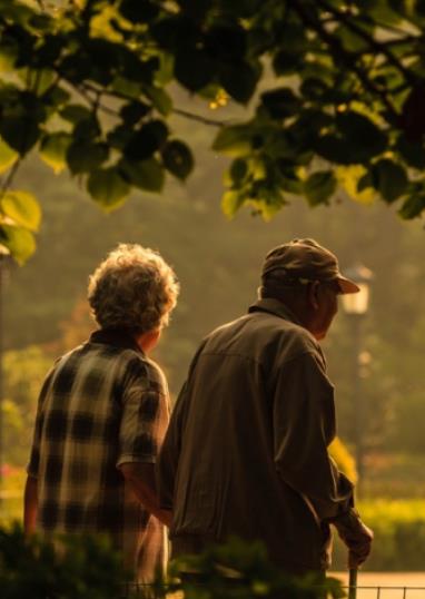
M 319 520 L 348 511 L 353 484 L 327 451 L 335 438 L 334 387 L 313 353 L 280 366 L 273 418 L 281 479 L 304 495 Z

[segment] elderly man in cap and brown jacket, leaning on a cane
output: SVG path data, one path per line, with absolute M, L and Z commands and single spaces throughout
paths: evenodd
M 334 387 L 318 341 L 358 287 L 313 239 L 269 252 L 261 278 L 248 314 L 204 340 L 171 416 L 158 475 L 174 554 L 238 536 L 288 573 L 324 572 L 333 523 L 355 567 L 372 531 L 327 452 Z

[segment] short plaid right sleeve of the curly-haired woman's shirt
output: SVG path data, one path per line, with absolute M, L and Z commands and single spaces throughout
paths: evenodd
M 161 373 L 139 361 L 122 396 L 117 467 L 155 463 L 168 424 L 168 394 Z

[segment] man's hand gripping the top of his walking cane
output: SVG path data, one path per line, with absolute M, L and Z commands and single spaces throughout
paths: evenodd
M 348 568 L 357 568 L 370 553 L 373 531 L 362 522 L 353 509 L 335 518 L 332 523 L 348 548 Z

